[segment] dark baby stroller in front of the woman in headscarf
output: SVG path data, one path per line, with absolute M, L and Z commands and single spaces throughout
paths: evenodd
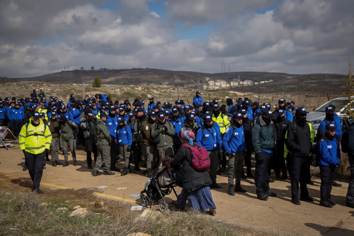
M 175 174 L 171 171 L 173 171 L 172 168 L 164 165 L 162 168 L 156 170 L 153 173 L 153 176 L 146 181 L 143 191 L 140 192 L 140 202 L 142 206 L 146 207 L 149 204 L 151 208 L 151 206 L 154 205 L 154 202 L 158 202 L 162 199 L 162 201 L 159 202 L 159 209 L 163 212 L 168 205 L 164 196 L 169 195 L 173 190 L 177 197 L 174 187 L 178 186 L 178 184 L 176 182 Z

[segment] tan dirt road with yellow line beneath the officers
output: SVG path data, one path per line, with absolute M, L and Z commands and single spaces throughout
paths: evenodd
M 68 167 L 53 167 L 51 161 L 47 162 L 41 182 L 41 189 L 45 191 L 45 194 L 40 197 L 60 194 L 83 203 L 93 203 L 95 198 L 101 197 L 120 201 L 120 204 L 111 203 L 118 208 L 140 204 L 140 197 L 130 197 L 130 195 L 140 194 L 148 180 L 141 172 L 133 171 L 132 174 L 122 177 L 119 172 L 115 175 L 93 177 L 93 169 L 87 168 L 85 152 L 78 150 L 76 153 L 78 166 L 72 165 L 70 155 Z M 63 161 L 64 157 L 59 155 L 59 159 Z M 30 191 L 33 183 L 28 171 L 22 171 L 24 156 L 19 146 L 9 150 L 1 148 L 0 162 L 2 189 Z M 118 168 L 121 166 L 122 163 L 117 164 Z M 274 173 L 272 173 L 272 178 L 275 178 Z M 211 190 L 217 207 L 215 217 L 232 227 L 244 229 L 241 231 L 242 235 L 354 235 L 354 209 L 345 206 L 348 183 L 339 181 L 343 186 L 333 187 L 332 199 L 337 205 L 333 208 L 325 208 L 318 205 L 320 179 L 314 178 L 313 181 L 315 184 L 308 185 L 308 189 L 310 196 L 315 197 L 316 201 L 302 201 L 300 206 L 296 206 L 290 202 L 289 180 L 270 183 L 271 191 L 278 195 L 269 198 L 268 201 L 261 201 L 257 199 L 253 179 L 241 181 L 247 193 L 229 196 L 227 176 L 224 172 L 217 177 L 217 183 L 221 185 L 221 189 Z M 97 188 L 99 186 L 107 187 Z M 176 191 L 179 193 L 181 189 L 176 188 Z M 176 200 L 176 196 L 172 192 L 165 199 L 171 202 Z

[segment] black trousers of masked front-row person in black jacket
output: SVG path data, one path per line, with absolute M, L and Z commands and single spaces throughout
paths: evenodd
M 309 195 L 307 190 L 308 169 L 310 168 L 309 158 L 307 156 L 291 157 L 291 199 L 298 199 L 299 183 L 300 197 L 306 198 Z

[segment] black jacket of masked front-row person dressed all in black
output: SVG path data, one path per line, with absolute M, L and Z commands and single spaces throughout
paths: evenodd
M 308 123 L 301 127 L 296 121 L 293 122 L 288 128 L 285 144 L 292 156 L 309 156 L 312 142 Z

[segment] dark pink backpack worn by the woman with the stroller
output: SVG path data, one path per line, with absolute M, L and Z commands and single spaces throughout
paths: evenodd
M 192 168 L 195 171 L 204 171 L 210 167 L 210 158 L 208 151 L 195 143 L 195 146 L 190 146 L 187 143 L 183 143 L 182 146 L 185 146 L 190 149 L 190 154 L 192 157 Z

